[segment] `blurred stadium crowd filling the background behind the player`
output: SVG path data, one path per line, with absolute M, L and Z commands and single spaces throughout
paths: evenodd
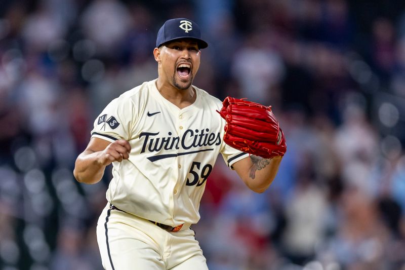
M 166 19 L 209 48 L 194 85 L 272 105 L 288 151 L 250 191 L 219 157 L 193 226 L 211 270 L 405 269 L 405 2 L 0 1 L 0 269 L 102 269 L 111 178 L 77 183 L 104 106 L 157 76 Z

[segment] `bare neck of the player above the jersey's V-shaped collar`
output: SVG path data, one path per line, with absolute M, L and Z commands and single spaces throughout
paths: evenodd
M 177 89 L 169 82 L 164 82 L 160 78 L 156 80 L 156 88 L 160 95 L 169 100 L 180 109 L 194 103 L 196 95 L 195 90 L 190 86 L 187 89 Z

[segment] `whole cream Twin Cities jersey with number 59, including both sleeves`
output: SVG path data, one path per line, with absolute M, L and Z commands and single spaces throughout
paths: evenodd
M 128 160 L 112 163 L 106 197 L 117 208 L 173 227 L 199 220 L 206 180 L 222 154 L 229 167 L 248 157 L 223 142 L 222 103 L 193 87 L 196 100 L 180 109 L 156 80 L 112 100 L 94 122 L 92 137 L 127 140 Z

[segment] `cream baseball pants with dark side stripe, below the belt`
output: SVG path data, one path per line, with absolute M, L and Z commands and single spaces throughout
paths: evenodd
M 109 204 L 97 223 L 97 242 L 106 270 L 208 270 L 192 229 L 167 232 Z

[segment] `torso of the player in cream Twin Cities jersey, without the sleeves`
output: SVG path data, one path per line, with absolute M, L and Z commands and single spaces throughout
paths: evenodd
M 180 109 L 153 87 L 141 93 L 139 102 L 129 138 L 130 158 L 114 164 L 107 197 L 127 211 L 162 223 L 176 223 L 160 220 L 162 216 L 196 221 L 222 145 L 217 104 L 198 90 L 196 101 Z

